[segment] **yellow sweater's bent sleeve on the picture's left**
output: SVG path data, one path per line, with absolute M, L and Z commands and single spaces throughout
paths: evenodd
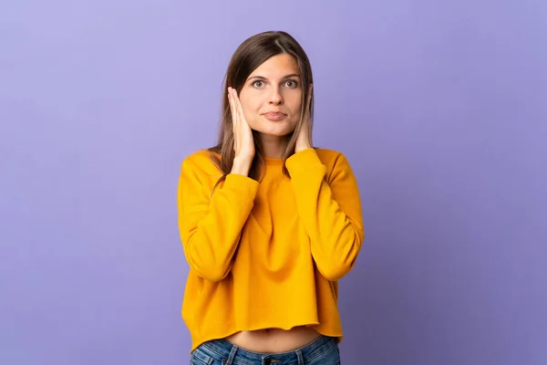
M 232 256 L 253 209 L 259 183 L 247 176 L 228 174 L 212 193 L 203 183 L 206 177 L 190 158 L 182 162 L 177 193 L 179 230 L 191 268 L 207 280 L 220 281 L 232 269 Z

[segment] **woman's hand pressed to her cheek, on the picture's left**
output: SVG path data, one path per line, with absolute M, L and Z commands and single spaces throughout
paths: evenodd
M 228 100 L 232 113 L 233 151 L 235 151 L 232 173 L 248 175 L 254 158 L 253 130 L 245 120 L 242 103 L 235 89 L 228 88 Z

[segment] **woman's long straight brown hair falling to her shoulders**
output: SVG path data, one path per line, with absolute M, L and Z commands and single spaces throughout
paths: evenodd
M 233 130 L 232 130 L 232 113 L 230 111 L 230 102 L 228 100 L 227 88 L 230 86 L 237 90 L 237 93 L 241 92 L 245 81 L 251 75 L 254 69 L 258 68 L 270 57 L 274 57 L 280 54 L 288 54 L 294 57 L 298 64 L 300 71 L 301 88 L 302 88 L 302 109 L 300 111 L 300 119 L 296 124 L 296 128 L 293 133 L 287 135 L 288 141 L 284 152 L 282 153 L 283 160 L 283 172 L 289 176 L 289 172 L 285 167 L 285 161 L 291 155 L 294 154 L 294 147 L 296 144 L 296 138 L 300 129 L 302 128 L 304 120 L 304 108 L 306 105 L 305 100 L 308 99 L 308 93 L 310 92 L 310 84 L 313 83 L 312 67 L 307 55 L 304 52 L 304 48 L 298 44 L 293 36 L 283 31 L 268 31 L 251 36 L 247 38 L 243 43 L 235 50 L 228 65 L 226 75 L 223 83 L 223 99 L 222 99 L 222 120 L 219 130 L 219 138 L 217 144 L 210 148 L 212 151 L 212 161 L 217 165 L 222 172 L 222 177 L 218 183 L 225 179 L 226 175 L 232 171 L 233 158 L 235 151 L 233 151 Z M 314 117 L 314 93 L 311 90 L 312 95 L 310 99 L 309 115 L 311 120 Z M 310 123 L 310 138 L 312 135 L 313 123 Z M 256 130 L 253 130 L 254 140 L 254 158 L 249 171 L 249 177 L 256 181 L 260 181 L 263 174 L 263 151 L 260 143 L 260 135 Z M 311 143 L 311 141 L 310 141 Z M 217 184 L 218 184 L 217 183 Z M 215 185 L 216 186 L 216 185 Z M 214 189 L 213 189 L 214 190 Z

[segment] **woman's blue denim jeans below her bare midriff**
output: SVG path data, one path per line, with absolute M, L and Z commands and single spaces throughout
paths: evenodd
M 191 365 L 339 365 L 336 339 L 321 336 L 300 349 L 280 353 L 242 349 L 226 339 L 202 343 L 191 352 Z

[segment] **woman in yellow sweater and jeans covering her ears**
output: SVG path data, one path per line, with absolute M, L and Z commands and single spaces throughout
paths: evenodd
M 364 239 L 345 156 L 312 146 L 308 57 L 284 32 L 232 56 L 218 144 L 187 157 L 179 227 L 193 364 L 338 364 L 337 280 Z

